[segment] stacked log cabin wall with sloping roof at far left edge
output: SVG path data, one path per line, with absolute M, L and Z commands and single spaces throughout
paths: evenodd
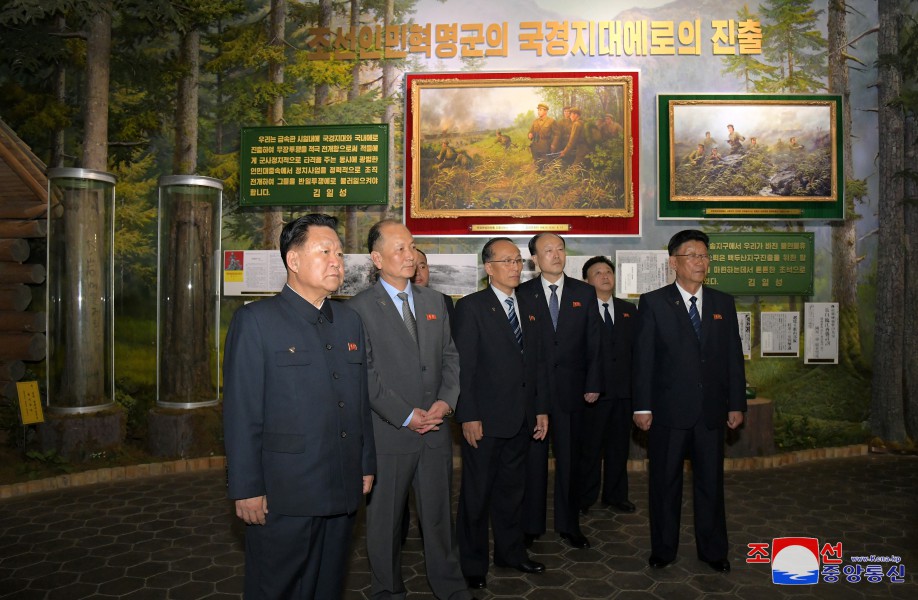
M 10 400 L 26 363 L 45 359 L 44 298 L 36 297 L 45 266 L 28 240 L 47 235 L 47 194 L 45 165 L 0 120 L 0 396 Z

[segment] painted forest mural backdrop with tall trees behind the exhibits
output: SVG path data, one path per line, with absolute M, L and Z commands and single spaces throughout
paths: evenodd
M 840 363 L 761 359 L 754 348 L 750 384 L 775 401 L 783 448 L 871 436 L 904 442 L 918 438 L 918 286 L 909 274 L 918 271 L 914 11 L 870 0 L 0 0 L 0 118 L 49 166 L 118 178 L 116 373 L 139 427 L 155 377 L 160 176 L 221 179 L 223 247 L 271 248 L 284 221 L 315 207 L 239 206 L 239 129 L 389 123 L 388 205 L 320 207 L 340 217 L 346 251 L 365 252 L 369 226 L 404 206 L 405 73 L 638 70 L 640 235 L 572 238 L 569 254 L 662 249 L 687 227 L 813 232 L 812 297 L 737 301 L 753 323 L 762 310 L 839 302 Z M 742 24 L 752 21 L 761 25 L 760 49 L 741 53 L 750 43 Z M 642 27 L 652 23 L 675 26 L 672 54 L 648 43 Z M 425 48 L 418 40 L 427 25 Z M 627 28 L 618 45 L 603 37 Z M 480 52 L 446 43 L 476 31 Z M 399 52 L 411 32 L 420 32 L 410 38 L 418 43 Z M 328 52 L 330 39 L 337 46 Z M 846 220 L 658 221 L 655 98 L 678 93 L 841 94 Z M 502 134 L 523 139 L 535 116 L 535 106 L 520 106 Z M 419 240 L 428 253 L 475 253 L 481 243 Z M 222 302 L 224 320 L 237 306 Z

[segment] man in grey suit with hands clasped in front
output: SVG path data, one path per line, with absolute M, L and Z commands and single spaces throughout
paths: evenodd
M 459 354 L 446 305 L 439 292 L 411 285 L 414 239 L 401 223 L 374 225 L 367 246 L 379 281 L 348 305 L 366 330 L 378 462 L 376 487 L 367 500 L 371 597 L 405 598 L 401 522 L 413 487 L 431 590 L 440 600 L 467 600 L 471 594 L 459 566 L 450 509 L 453 453 L 444 419 L 459 397 Z

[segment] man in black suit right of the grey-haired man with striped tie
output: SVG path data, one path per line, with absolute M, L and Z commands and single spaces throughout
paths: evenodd
M 540 233 L 529 240 L 529 253 L 541 276 L 520 285 L 519 296 L 532 302 L 545 353 L 551 413 L 551 445 L 555 457 L 555 531 L 574 548 L 589 548 L 580 531 L 577 454 L 583 432 L 583 410 L 599 398 L 600 319 L 594 309 L 596 291 L 567 277 L 564 239 Z M 548 443 L 529 445 L 523 531 L 526 541 L 545 532 L 548 491 Z

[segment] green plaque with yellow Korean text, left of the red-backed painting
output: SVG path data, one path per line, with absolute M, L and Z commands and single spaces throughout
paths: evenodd
M 386 204 L 388 125 L 244 127 L 242 206 Z

